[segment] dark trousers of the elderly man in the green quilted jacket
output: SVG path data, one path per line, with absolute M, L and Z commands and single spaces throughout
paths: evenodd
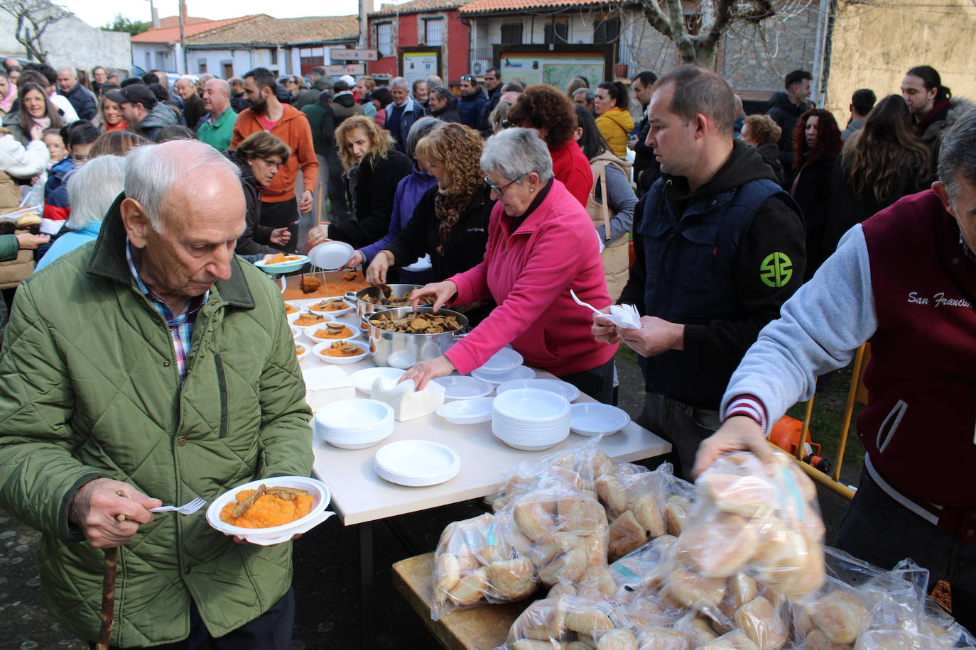
M 295 590 L 281 596 L 269 610 L 224 636 L 214 638 L 200 619 L 196 604 L 189 608 L 189 637 L 176 643 L 154 645 L 152 650 L 290 650 L 295 628 Z M 89 643 L 95 650 L 95 644 Z M 119 650 L 114 645 L 110 650 Z

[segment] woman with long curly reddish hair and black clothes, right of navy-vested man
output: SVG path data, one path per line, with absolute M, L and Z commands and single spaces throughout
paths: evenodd
M 806 271 L 809 280 L 827 259 L 824 230 L 831 204 L 831 174 L 843 147 L 840 129 L 830 111 L 811 108 L 793 128 L 793 175 L 790 194 L 803 210 L 806 221 Z

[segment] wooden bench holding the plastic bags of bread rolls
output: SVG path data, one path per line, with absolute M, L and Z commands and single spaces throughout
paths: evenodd
M 533 598 L 484 605 L 430 620 L 433 554 L 408 557 L 393 564 L 393 586 L 424 620 L 427 630 L 448 650 L 491 650 L 505 642 L 508 628 Z

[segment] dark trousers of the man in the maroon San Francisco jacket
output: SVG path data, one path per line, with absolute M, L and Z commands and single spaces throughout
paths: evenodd
M 959 477 L 960 488 L 966 483 L 966 478 Z M 911 557 L 928 569 L 928 591 L 940 580 L 952 585 L 953 616 L 959 625 L 976 633 L 976 544 L 967 544 L 915 515 L 863 470 L 854 500 L 840 523 L 837 548 L 886 570 Z

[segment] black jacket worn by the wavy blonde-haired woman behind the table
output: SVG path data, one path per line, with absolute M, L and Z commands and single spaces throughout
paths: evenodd
M 361 249 L 381 240 L 389 230 L 396 185 L 412 171 L 410 159 L 395 149 L 381 160 L 372 154 L 367 155 L 348 174 L 349 196 L 355 218 L 332 223 L 329 226 L 329 239 L 347 242 L 353 249 Z

